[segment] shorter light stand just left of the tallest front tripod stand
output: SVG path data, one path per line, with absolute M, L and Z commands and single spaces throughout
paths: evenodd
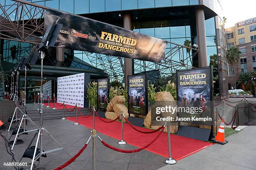
M 22 118 L 20 120 L 20 125 L 19 125 L 18 131 L 16 133 L 15 139 L 13 141 L 13 146 L 12 146 L 11 150 L 13 150 L 13 147 L 14 147 L 15 143 L 17 142 L 17 138 L 18 138 L 18 136 L 20 134 L 28 134 L 28 132 L 33 132 L 33 131 L 36 131 L 38 129 L 38 126 L 36 126 L 36 124 L 27 115 L 27 107 L 26 107 L 26 76 L 27 76 L 27 66 L 25 66 L 25 90 L 24 90 L 24 100 L 23 100 L 24 112 L 23 112 Z M 25 129 L 26 128 L 26 119 L 28 119 L 37 129 L 32 129 L 32 130 L 26 131 L 26 129 Z M 20 126 L 21 126 L 22 122 L 23 122 L 23 130 L 20 132 Z

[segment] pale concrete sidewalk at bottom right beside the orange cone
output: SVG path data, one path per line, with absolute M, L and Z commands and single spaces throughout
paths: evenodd
M 225 145 L 212 145 L 159 170 L 256 170 L 256 126 L 246 127 L 226 140 Z

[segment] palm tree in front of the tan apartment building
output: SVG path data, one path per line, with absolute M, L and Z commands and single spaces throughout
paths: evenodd
M 237 63 L 240 59 L 240 54 L 241 52 L 238 50 L 237 47 L 231 47 L 227 50 L 227 61 L 228 61 L 228 64 L 231 66 L 231 73 L 233 73 L 234 71 L 234 85 L 235 85 L 235 89 L 236 89 L 236 69 L 235 67 L 237 66 Z M 232 71 L 233 70 L 233 71 Z

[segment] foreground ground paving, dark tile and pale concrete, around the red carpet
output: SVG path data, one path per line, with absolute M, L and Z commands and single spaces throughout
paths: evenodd
M 35 121 L 39 124 L 39 121 Z M 37 168 L 45 168 L 52 170 L 59 167 L 64 162 L 70 159 L 70 155 L 74 156 L 89 139 L 90 129 L 81 125 L 73 125 L 69 120 L 50 119 L 44 120 L 43 127 L 45 127 L 51 135 L 63 146 L 64 150 L 51 152 L 47 157 L 40 158 L 35 165 Z M 27 130 L 33 129 L 33 126 L 28 122 Z M 4 131 L 2 134 L 7 138 L 10 137 L 12 131 L 8 133 Z M 13 153 L 16 162 L 20 160 L 26 147 L 31 141 L 34 132 L 20 135 L 20 139 L 24 141 L 23 144 L 15 145 Z M 117 144 L 118 140 L 108 137 L 104 134 L 98 133 L 99 136 L 115 147 L 132 150 L 136 147 L 126 144 Z M 256 170 L 256 126 L 245 127 L 236 134 L 232 134 L 226 138 L 229 142 L 225 145 L 212 145 L 204 150 L 196 152 L 182 160 L 177 161 L 175 165 L 166 165 L 164 160 L 166 157 L 154 154 L 152 152 L 142 150 L 137 153 L 120 153 L 108 149 L 97 140 L 96 158 L 98 170 Z M 14 139 L 12 137 L 11 140 Z M 35 141 L 33 142 L 35 145 Z M 56 142 L 52 140 L 49 135 L 44 132 L 43 135 L 43 149 L 49 150 L 58 147 Z M 175 147 L 175 146 L 172 146 Z M 14 167 L 4 166 L 4 162 L 12 162 L 11 156 L 6 152 L 5 142 L 0 137 L 0 170 L 13 170 Z M 15 162 L 15 161 L 13 161 Z M 31 163 L 31 159 L 23 158 L 21 162 Z M 30 166 L 24 166 L 29 169 Z M 91 170 L 92 169 L 92 140 L 84 150 L 84 152 L 77 158 L 75 162 L 64 168 L 64 170 Z M 39 169 L 38 169 L 39 170 Z

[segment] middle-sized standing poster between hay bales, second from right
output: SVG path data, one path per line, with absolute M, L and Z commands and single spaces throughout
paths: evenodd
M 128 76 L 128 113 L 148 114 L 148 81 L 146 74 Z

